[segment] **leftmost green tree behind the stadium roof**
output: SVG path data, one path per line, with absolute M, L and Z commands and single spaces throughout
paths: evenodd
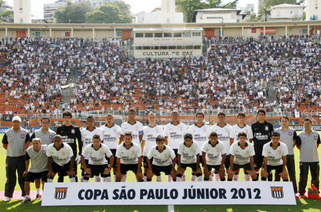
M 86 13 L 89 11 L 91 11 L 91 6 L 88 0 L 68 2 L 65 7 L 56 10 L 54 18 L 59 24 L 83 24 L 86 22 Z

